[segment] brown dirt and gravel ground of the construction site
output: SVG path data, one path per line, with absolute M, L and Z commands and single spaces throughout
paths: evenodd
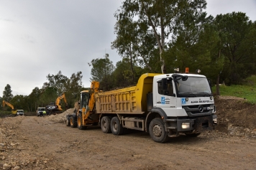
M 122 136 L 65 126 L 65 115 L 0 118 L 0 169 L 256 169 L 256 105 L 215 98 L 218 125 L 167 143 L 149 133 Z

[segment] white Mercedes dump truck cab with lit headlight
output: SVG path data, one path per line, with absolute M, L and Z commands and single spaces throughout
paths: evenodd
M 148 110 L 161 115 L 169 136 L 196 136 L 211 131 L 216 123 L 214 97 L 204 75 L 155 75 L 150 95 Z

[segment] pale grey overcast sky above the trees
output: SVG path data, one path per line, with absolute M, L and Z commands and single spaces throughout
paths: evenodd
M 207 0 L 208 14 L 242 11 L 256 20 L 256 0 Z M 13 95 L 42 88 L 48 74 L 70 77 L 83 72 L 90 86 L 88 62 L 104 57 L 114 65 L 121 57 L 115 39 L 115 11 L 121 0 L 0 0 L 0 96 L 7 84 Z

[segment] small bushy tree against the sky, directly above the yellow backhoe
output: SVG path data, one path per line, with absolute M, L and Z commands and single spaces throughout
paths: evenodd
M 88 65 L 92 66 L 90 80 L 99 81 L 103 90 L 111 89 L 113 83 L 110 75 L 114 70 L 114 65 L 109 60 L 109 55 L 106 54 L 104 58 L 93 59 Z

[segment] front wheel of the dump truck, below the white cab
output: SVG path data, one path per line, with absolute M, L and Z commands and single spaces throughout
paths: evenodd
M 155 142 L 165 143 L 168 141 L 168 133 L 161 118 L 154 118 L 150 122 L 150 136 Z

